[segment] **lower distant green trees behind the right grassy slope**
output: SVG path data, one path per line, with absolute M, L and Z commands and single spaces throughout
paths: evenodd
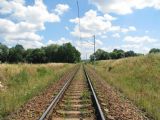
M 152 53 L 160 53 L 160 49 L 153 48 L 149 51 L 149 54 L 152 54 Z M 95 52 L 95 54 L 90 55 L 90 60 L 93 61 L 94 56 L 95 56 L 95 60 L 108 60 L 108 59 L 120 59 L 124 57 L 134 57 L 139 55 L 143 55 L 143 54 L 135 53 L 132 50 L 124 51 L 121 49 L 114 49 L 112 52 L 106 52 L 102 49 L 98 49 Z

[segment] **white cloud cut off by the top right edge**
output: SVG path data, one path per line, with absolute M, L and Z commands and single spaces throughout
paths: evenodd
M 90 0 L 91 3 L 104 13 L 130 14 L 135 9 L 160 9 L 159 0 Z

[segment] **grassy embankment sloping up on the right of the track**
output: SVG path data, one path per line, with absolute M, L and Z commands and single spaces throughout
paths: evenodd
M 98 61 L 96 70 L 139 108 L 160 120 L 160 55 Z

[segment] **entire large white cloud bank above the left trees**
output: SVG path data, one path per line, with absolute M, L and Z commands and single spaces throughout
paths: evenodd
M 67 9 L 65 6 L 59 7 L 61 15 Z M 43 45 L 43 37 L 37 31 L 44 30 L 46 22 L 60 22 L 60 14 L 49 12 L 43 0 L 35 0 L 33 5 L 26 5 L 25 0 L 0 0 L 0 15 L 5 15 L 0 18 L 0 36 L 4 43 L 9 45 L 11 41 L 26 48 Z

